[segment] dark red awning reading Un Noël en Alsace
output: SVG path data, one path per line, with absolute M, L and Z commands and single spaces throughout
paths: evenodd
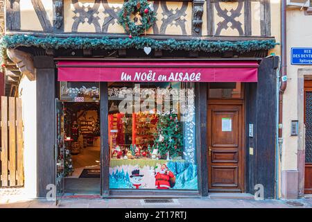
M 59 81 L 257 82 L 257 61 L 59 61 Z

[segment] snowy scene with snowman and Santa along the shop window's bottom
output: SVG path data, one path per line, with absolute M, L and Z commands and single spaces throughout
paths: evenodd
M 152 166 L 140 167 L 141 163 L 135 164 L 135 162 L 110 167 L 110 189 L 198 189 L 196 164 L 186 161 L 169 161 L 162 164 L 163 161 L 159 161 Z M 164 165 L 168 169 L 162 171 L 162 167 L 166 168 Z M 169 185 L 164 183 L 166 180 L 162 177 L 162 173 L 169 178 Z M 172 187 L 170 176 L 175 180 L 171 184 Z

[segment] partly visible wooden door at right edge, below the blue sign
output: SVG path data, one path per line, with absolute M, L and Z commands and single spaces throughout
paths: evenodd
M 305 164 L 304 194 L 312 194 L 312 80 L 304 81 Z

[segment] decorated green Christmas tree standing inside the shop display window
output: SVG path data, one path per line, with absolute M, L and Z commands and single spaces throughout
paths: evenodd
M 157 122 L 157 133 L 155 133 L 155 145 L 162 159 L 166 159 L 167 153 L 170 157 L 179 157 L 183 153 L 183 134 L 177 114 L 161 114 Z

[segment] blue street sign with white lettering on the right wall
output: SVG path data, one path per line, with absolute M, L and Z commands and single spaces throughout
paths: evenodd
M 291 48 L 291 65 L 312 65 L 312 48 Z

